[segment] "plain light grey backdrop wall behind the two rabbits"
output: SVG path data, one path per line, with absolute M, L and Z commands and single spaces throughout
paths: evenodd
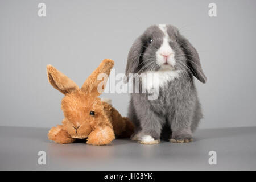
M 38 17 L 38 3 L 47 16 Z M 208 16 L 210 2 L 217 17 Z M 0 125 L 52 127 L 63 95 L 49 85 L 52 64 L 79 86 L 102 59 L 124 72 L 135 38 L 151 24 L 180 28 L 201 57 L 207 84 L 196 81 L 200 127 L 256 126 L 256 1 L 0 2 Z M 129 94 L 105 94 L 127 114 Z

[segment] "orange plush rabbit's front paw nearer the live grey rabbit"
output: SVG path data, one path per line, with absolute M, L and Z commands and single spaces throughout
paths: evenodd
M 114 131 L 110 127 L 97 128 L 87 138 L 87 144 L 97 146 L 110 144 L 115 139 Z

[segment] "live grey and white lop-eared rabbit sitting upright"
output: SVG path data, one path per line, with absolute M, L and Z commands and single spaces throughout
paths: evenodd
M 163 127 L 168 140 L 192 141 L 192 133 L 203 117 L 193 76 L 205 83 L 199 55 L 176 27 L 159 24 L 148 27 L 131 46 L 126 76 L 129 73 L 158 73 L 159 96 L 132 93 L 128 117 L 136 126 L 132 140 L 142 144 L 160 142 Z

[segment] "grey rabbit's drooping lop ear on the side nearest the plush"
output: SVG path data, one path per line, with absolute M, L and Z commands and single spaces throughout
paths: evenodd
M 145 47 L 143 46 L 143 40 L 141 36 L 135 40 L 133 45 L 130 48 L 127 58 L 127 64 L 125 69 L 125 75 L 127 80 L 129 80 L 129 73 L 137 73 L 139 70 L 139 63 L 142 56 L 142 53 L 145 51 Z

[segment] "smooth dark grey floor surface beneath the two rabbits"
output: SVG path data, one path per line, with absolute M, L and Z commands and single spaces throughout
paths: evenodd
M 200 129 L 192 143 L 142 145 L 116 139 L 109 146 L 56 144 L 48 129 L 0 127 L 1 170 L 237 170 L 256 169 L 256 127 Z M 46 152 L 46 165 L 38 152 Z M 217 164 L 209 165 L 209 151 Z

